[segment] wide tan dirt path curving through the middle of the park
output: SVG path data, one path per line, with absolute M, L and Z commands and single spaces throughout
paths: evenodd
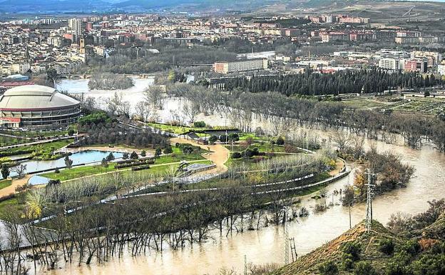
M 222 144 L 215 145 L 202 145 L 190 139 L 181 139 L 179 137 L 170 139 L 171 144 L 176 144 L 177 142 L 180 144 L 192 144 L 194 146 L 200 146 L 202 149 L 212 151 L 208 154 L 203 154 L 205 159 L 213 161 L 216 165 L 215 169 L 210 169 L 206 171 L 207 173 L 223 173 L 227 171 L 227 166 L 225 166 L 225 162 L 229 159 L 229 150 L 225 148 Z

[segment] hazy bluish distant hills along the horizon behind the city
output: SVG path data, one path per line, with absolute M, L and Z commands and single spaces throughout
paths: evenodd
M 144 12 L 157 9 L 170 9 L 178 11 L 202 11 L 208 9 L 225 10 L 249 10 L 255 11 L 268 9 L 273 12 L 274 6 L 279 6 L 284 11 L 287 8 L 305 7 L 319 9 L 324 13 L 333 11 L 350 11 L 357 6 L 357 11 L 362 11 L 365 7 L 372 9 L 372 6 L 426 6 L 428 11 L 436 11 L 437 5 L 442 2 L 426 1 L 363 1 L 363 0 L 0 0 L 0 10 L 8 13 L 21 14 L 56 14 L 66 13 L 92 13 L 93 11 L 130 11 Z M 436 4 L 434 4 L 436 3 Z

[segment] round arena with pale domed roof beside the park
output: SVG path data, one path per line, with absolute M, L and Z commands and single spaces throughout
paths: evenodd
M 18 86 L 0 96 L 0 126 L 5 128 L 68 126 L 80 115 L 79 101 L 47 86 Z

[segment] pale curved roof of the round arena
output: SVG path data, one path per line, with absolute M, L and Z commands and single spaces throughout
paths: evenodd
M 26 85 L 11 88 L 0 97 L 1 110 L 61 109 L 80 104 L 48 86 Z

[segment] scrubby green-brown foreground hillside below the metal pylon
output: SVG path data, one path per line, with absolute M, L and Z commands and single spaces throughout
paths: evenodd
M 394 234 L 364 221 L 274 275 L 443 275 L 445 274 L 445 201 L 429 201 L 429 210 L 394 219 Z

